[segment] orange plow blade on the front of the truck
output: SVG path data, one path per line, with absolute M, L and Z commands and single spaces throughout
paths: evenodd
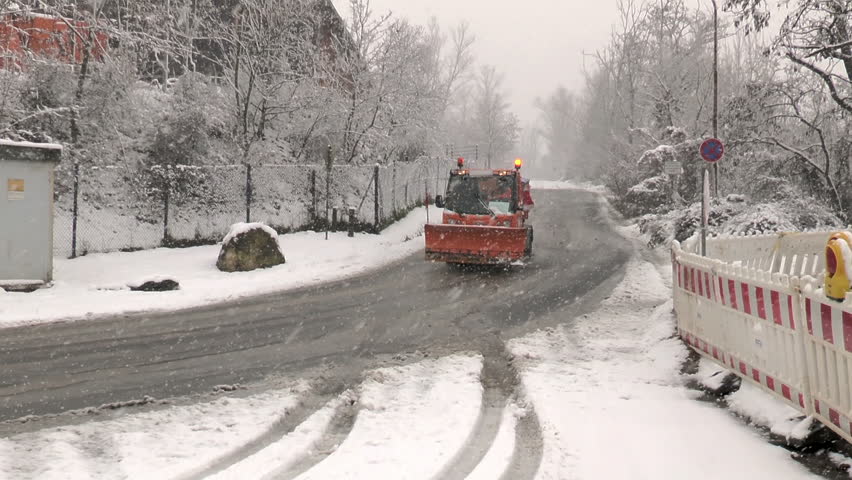
M 511 263 L 527 257 L 527 229 L 426 225 L 426 259 L 451 263 Z

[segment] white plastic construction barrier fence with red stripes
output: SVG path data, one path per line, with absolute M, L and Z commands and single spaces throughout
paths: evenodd
M 852 442 L 852 295 L 822 291 L 830 232 L 672 246 L 678 333 L 705 357 Z

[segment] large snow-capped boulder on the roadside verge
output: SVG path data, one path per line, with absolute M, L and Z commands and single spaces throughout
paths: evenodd
M 285 261 L 275 230 L 262 223 L 238 223 L 222 240 L 216 267 L 223 272 L 250 272 Z

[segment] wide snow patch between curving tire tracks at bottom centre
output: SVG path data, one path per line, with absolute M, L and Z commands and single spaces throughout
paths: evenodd
M 481 356 L 453 355 L 371 372 L 352 432 L 298 480 L 432 479 L 473 431 Z

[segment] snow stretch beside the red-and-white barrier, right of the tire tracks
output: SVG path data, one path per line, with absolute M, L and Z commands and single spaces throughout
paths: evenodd
M 816 478 L 696 400 L 669 297 L 657 269 L 634 259 L 600 310 L 510 342 L 544 436 L 537 478 Z

